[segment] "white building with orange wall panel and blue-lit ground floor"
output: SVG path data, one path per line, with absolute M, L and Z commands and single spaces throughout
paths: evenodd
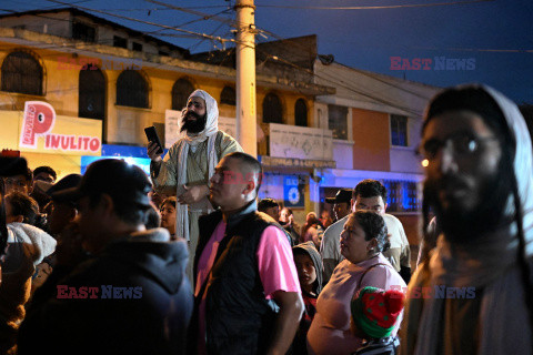
M 415 152 L 423 111 L 440 88 L 320 60 L 314 73 L 316 83 L 336 89 L 314 104 L 321 126 L 333 132 L 336 168 L 316 172 L 320 182 L 311 186 L 311 199 L 328 207 L 324 197 L 339 187 L 379 180 L 388 189 L 388 212 L 418 244 L 423 168 Z

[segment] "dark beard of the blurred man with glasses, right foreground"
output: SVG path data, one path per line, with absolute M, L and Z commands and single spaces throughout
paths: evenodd
M 497 229 L 506 220 L 503 213 L 511 194 L 506 174 L 501 174 L 485 183 L 479 191 L 479 201 L 471 207 L 465 207 L 460 202 L 443 203 L 439 199 L 442 185 L 449 183 L 446 178 L 424 182 L 424 200 L 428 199 L 429 205 L 434 209 L 439 226 L 450 242 L 475 241 L 484 233 Z

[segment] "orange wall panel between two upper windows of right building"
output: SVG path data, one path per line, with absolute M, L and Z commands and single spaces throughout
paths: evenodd
M 390 171 L 389 114 L 352 110 L 353 169 Z

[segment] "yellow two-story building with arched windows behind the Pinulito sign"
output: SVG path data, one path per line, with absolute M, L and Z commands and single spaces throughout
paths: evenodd
M 311 41 L 316 48 L 315 37 Z M 169 128 L 175 126 L 177 115 L 194 89 L 207 90 L 218 100 L 222 129 L 234 132 L 234 64 L 202 60 L 178 45 L 71 8 L 2 16 L 0 43 L 0 124 L 9 126 L 0 133 L 1 148 L 21 150 L 31 168 L 48 164 L 64 175 L 83 172 L 89 162 L 108 155 L 135 159 L 147 168 L 143 128 L 155 125 L 170 146 L 177 134 Z M 302 134 L 318 134 L 321 141 L 322 130 L 313 129 L 318 125 L 314 100 L 334 89 L 288 64 L 266 63 L 276 47 L 268 44 L 258 51 L 265 53 L 258 55 L 257 70 L 258 136 L 262 138 L 258 144 L 266 166 L 261 195 L 282 200 L 280 181 L 283 185 L 283 179 L 295 178 L 300 190 L 298 199 L 292 190 L 292 200 L 298 200 L 295 205 L 300 203 L 302 211 L 311 210 L 302 182 L 315 166 L 334 168 L 331 149 L 324 163 L 323 153 L 310 141 L 304 150 L 314 150 L 314 155 L 281 165 L 271 162 L 269 150 L 273 140 Z M 300 55 L 299 64 L 312 70 L 315 57 L 313 52 Z M 26 120 L 29 101 L 46 102 L 56 112 L 48 131 L 40 131 L 38 121 Z M 22 144 L 28 122 L 34 146 Z M 291 129 L 296 126 L 294 134 Z M 93 144 L 89 150 L 88 144 L 77 144 L 83 142 L 82 133 L 99 139 L 100 146 Z

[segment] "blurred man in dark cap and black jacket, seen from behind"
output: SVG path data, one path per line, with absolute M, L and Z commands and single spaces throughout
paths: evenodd
M 77 223 L 19 333 L 19 354 L 182 354 L 192 312 L 187 244 L 147 231 L 151 184 L 121 160 L 89 165 L 77 187 Z M 67 233 L 70 232 L 70 233 Z

